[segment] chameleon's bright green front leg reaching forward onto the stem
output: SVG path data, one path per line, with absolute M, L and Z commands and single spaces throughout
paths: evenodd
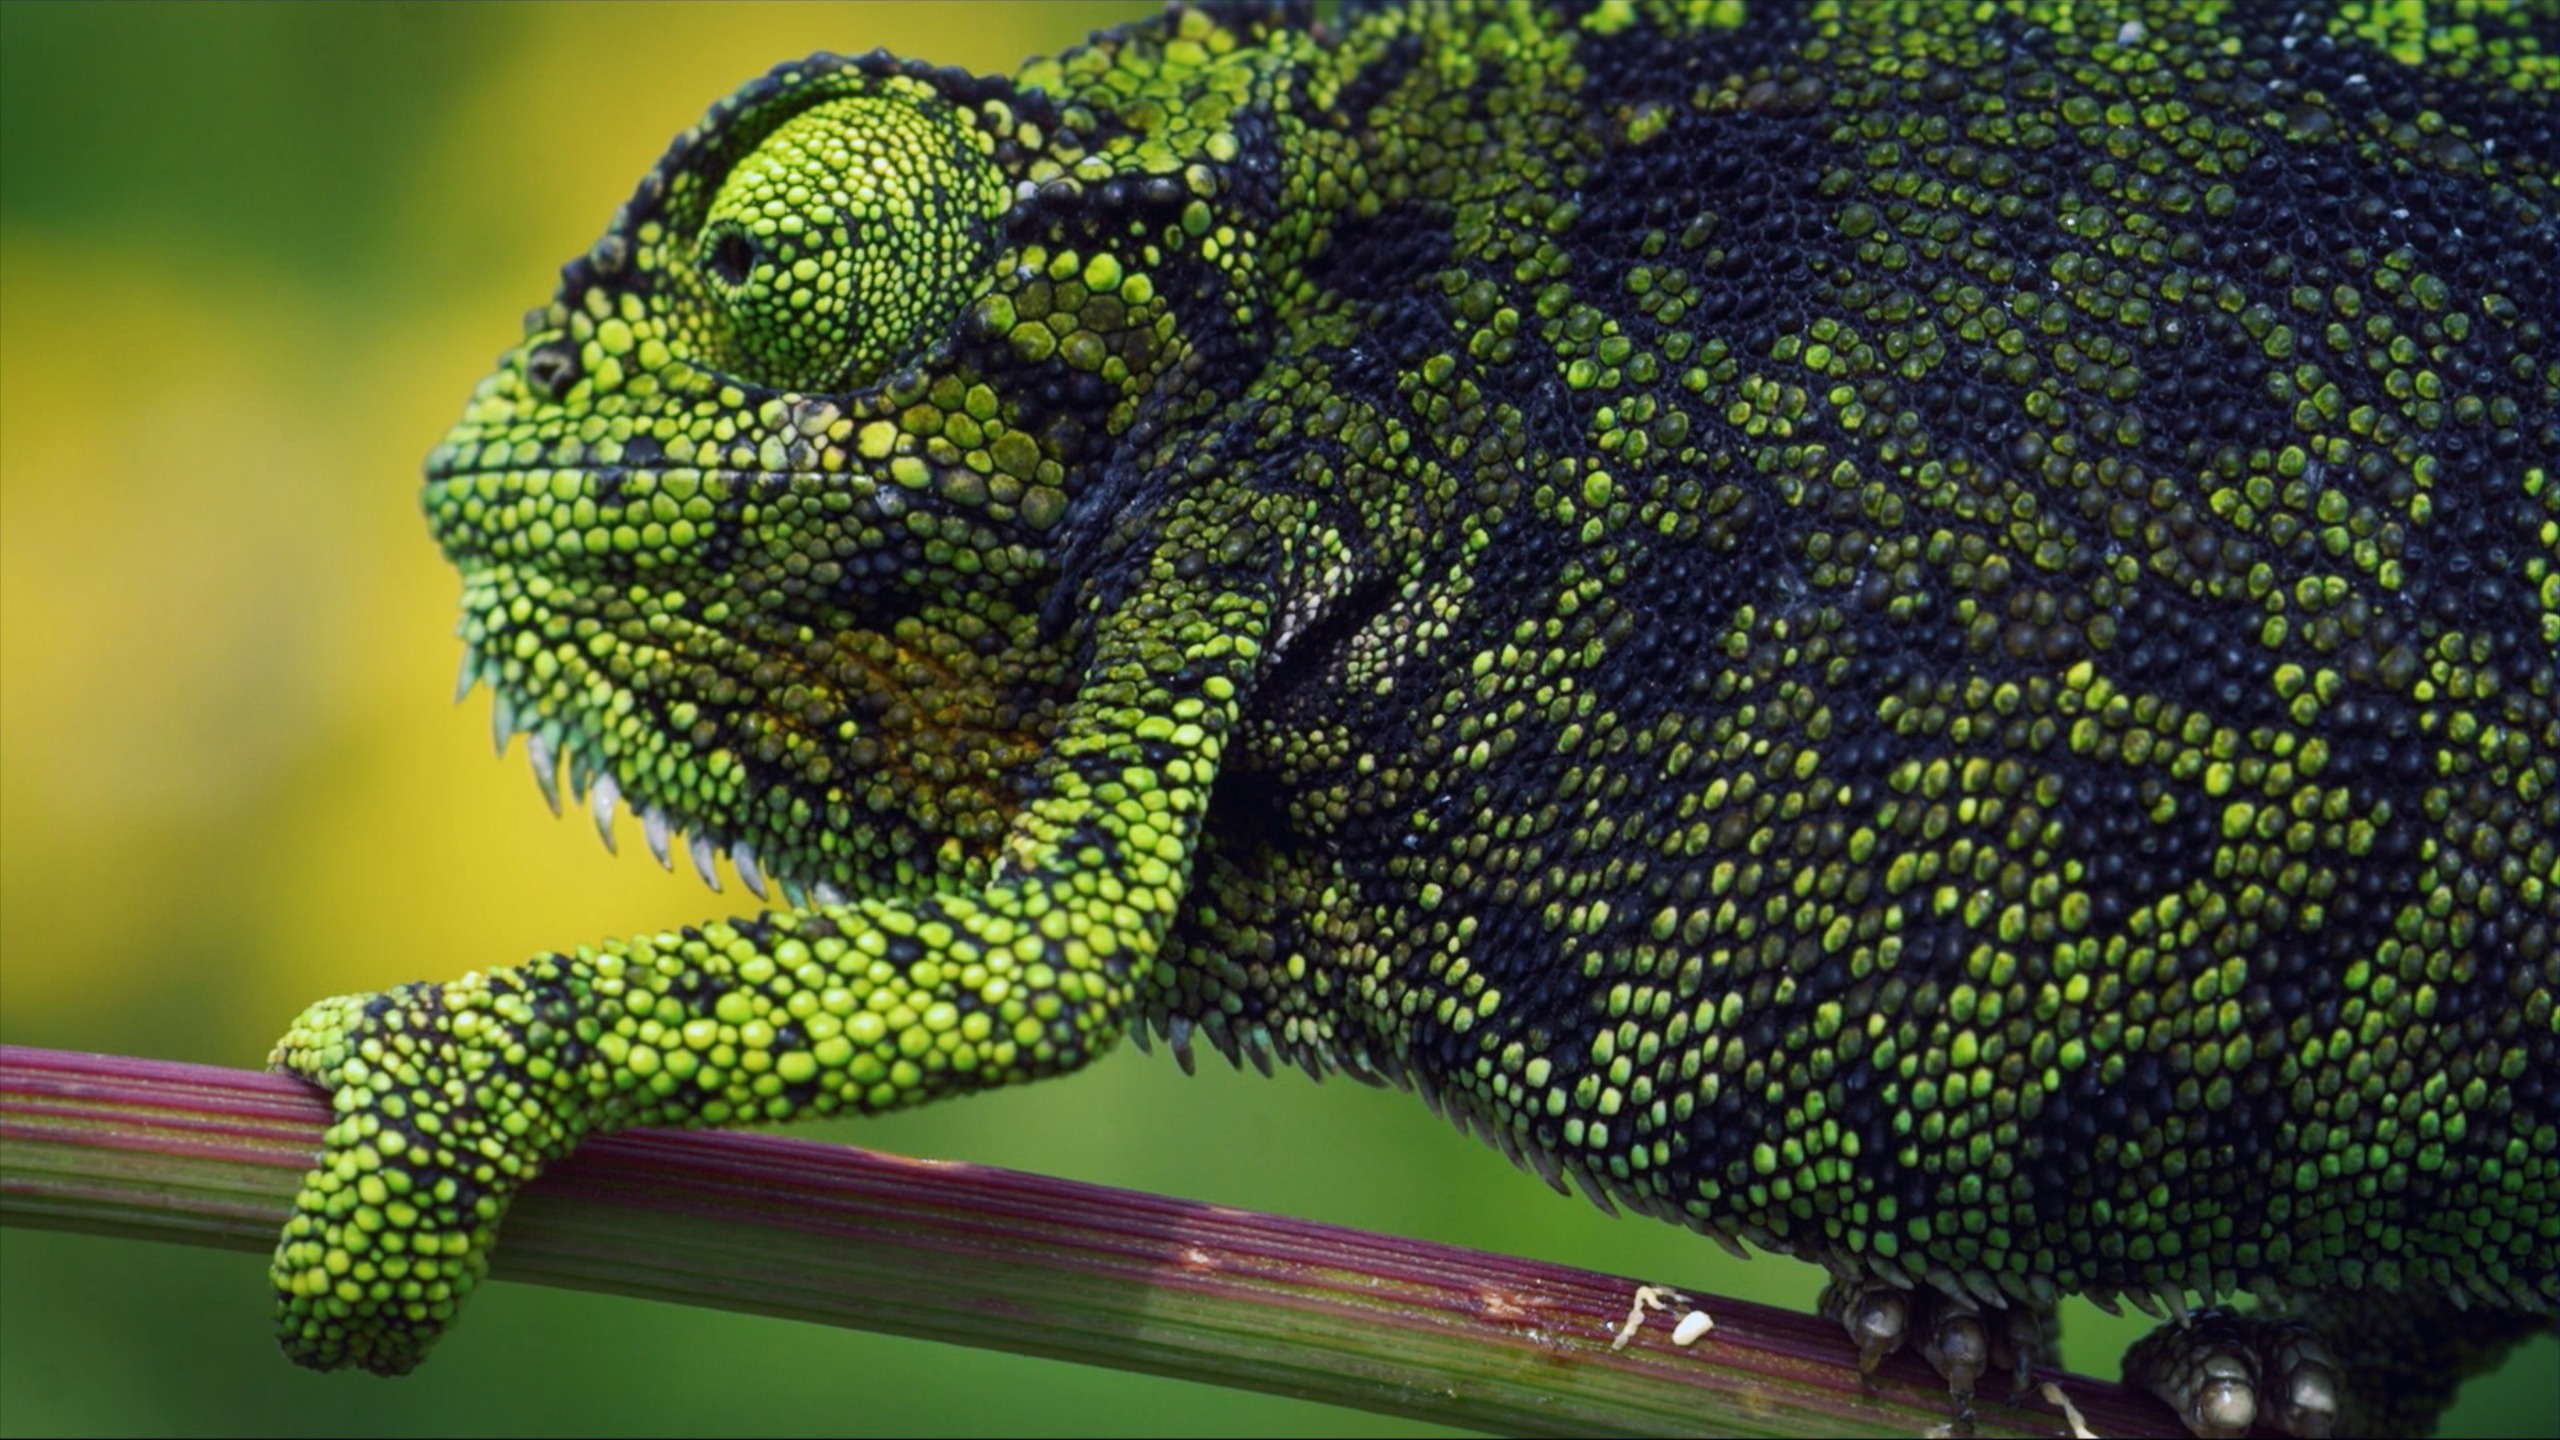
M 1096 623 L 1044 789 L 975 894 L 776 910 L 310 1007 L 271 1058 L 335 1104 L 274 1256 L 284 1353 L 417 1366 L 507 1202 L 586 1135 L 868 1115 L 1108 1051 L 1270 615 L 1188 594 Z

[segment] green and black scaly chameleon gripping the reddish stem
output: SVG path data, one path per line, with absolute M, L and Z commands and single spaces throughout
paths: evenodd
M 425 512 L 553 802 L 773 907 L 305 1012 L 284 1348 L 415 1366 L 586 1135 L 1155 1033 L 1958 1399 L 2092 1294 L 2199 1432 L 2424 1427 L 2560 1314 L 2555 95 L 2468 3 L 771 72 Z

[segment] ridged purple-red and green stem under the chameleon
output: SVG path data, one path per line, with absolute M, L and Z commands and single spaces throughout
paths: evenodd
M 284 1076 L 0 1045 L 0 1220 L 264 1250 L 328 1102 Z M 1636 1281 L 991 1166 L 773 1135 L 591 1140 L 525 1191 L 497 1273 L 1239 1384 L 1503 1432 L 1915 1435 L 1946 1391 L 1869 1384 L 1838 1327 Z M 2168 1412 L 2056 1376 L 2104 1435 Z M 2058 1435 L 1984 1399 L 1979 1435 Z

